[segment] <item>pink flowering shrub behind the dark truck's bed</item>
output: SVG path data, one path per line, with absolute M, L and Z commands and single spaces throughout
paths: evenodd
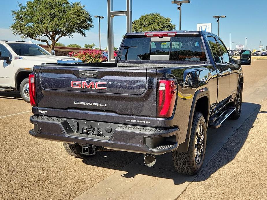
M 107 61 L 107 57 L 102 55 L 100 50 L 85 50 L 79 52 L 70 52 L 70 56 L 79 58 L 83 63 L 102 63 Z

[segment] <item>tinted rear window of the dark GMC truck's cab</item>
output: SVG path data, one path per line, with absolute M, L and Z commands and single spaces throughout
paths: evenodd
M 170 61 L 206 61 L 201 37 L 171 37 L 171 41 L 151 38 L 125 38 L 119 60 L 150 60 L 151 56 L 168 56 Z

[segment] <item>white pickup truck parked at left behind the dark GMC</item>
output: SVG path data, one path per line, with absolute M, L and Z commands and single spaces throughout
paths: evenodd
M 80 59 L 55 56 L 31 41 L 0 40 L 0 91 L 19 90 L 29 99 L 29 74 L 34 65 L 55 63 L 82 63 Z

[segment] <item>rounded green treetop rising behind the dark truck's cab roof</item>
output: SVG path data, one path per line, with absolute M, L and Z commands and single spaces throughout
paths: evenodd
M 171 23 L 171 19 L 161 16 L 159 13 L 142 15 L 132 24 L 133 32 L 172 30 L 175 30 L 175 25 Z

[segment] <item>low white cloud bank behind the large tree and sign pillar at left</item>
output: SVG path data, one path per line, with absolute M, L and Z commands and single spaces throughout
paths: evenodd
M 14 35 L 11 29 L 0 28 L 0 40 L 20 40 L 20 36 Z M 26 41 L 31 40 L 32 42 L 37 43 L 37 44 L 46 44 L 44 42 L 40 42 L 40 41 L 36 41 L 33 39 L 28 39 L 28 38 L 24 38 L 23 40 L 26 40 Z M 122 35 L 114 34 L 114 46 L 119 48 L 121 41 L 122 41 Z M 79 44 L 82 47 L 85 44 L 94 43 L 96 44 L 96 47 L 99 47 L 99 34 L 87 31 L 86 37 L 83 37 L 82 35 L 74 33 L 73 37 L 70 37 L 70 38 L 61 37 L 59 39 L 59 42 L 65 45 Z M 107 33 L 101 33 L 101 49 L 105 48 L 106 46 L 108 46 Z

